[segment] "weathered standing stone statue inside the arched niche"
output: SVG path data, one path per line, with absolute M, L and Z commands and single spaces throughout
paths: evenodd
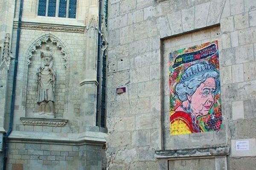
M 47 45 L 41 52 L 42 65 L 38 68 L 38 99 L 40 106 L 36 116 L 54 118 L 54 88 L 56 75 L 53 70 L 52 53 Z

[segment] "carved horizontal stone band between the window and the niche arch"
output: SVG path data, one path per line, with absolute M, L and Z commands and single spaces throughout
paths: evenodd
M 18 28 L 17 21 L 13 24 L 14 28 Z M 21 23 L 22 29 L 34 29 L 34 30 L 45 30 L 45 31 L 61 31 L 61 32 L 73 32 L 73 33 L 84 33 L 85 28 L 81 26 L 63 26 L 63 25 L 49 25 L 41 23 Z

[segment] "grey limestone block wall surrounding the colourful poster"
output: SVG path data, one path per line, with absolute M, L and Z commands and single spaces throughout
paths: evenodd
M 254 155 L 250 157 L 236 155 L 231 143 L 256 138 L 255 7 L 254 0 L 110 0 L 110 170 L 167 170 L 179 164 L 183 169 L 189 169 L 189 164 L 206 169 L 206 162 L 212 170 L 254 169 L 255 142 L 250 145 Z M 170 136 L 168 54 L 212 40 L 219 42 L 224 126 L 218 132 Z M 118 87 L 126 92 L 116 94 Z M 186 158 L 195 151 L 189 149 L 220 150 L 218 146 L 230 150 L 218 151 L 212 156 L 215 159 Z M 157 150 L 178 151 L 176 157 L 160 158 Z M 180 157 L 184 161 L 177 161 Z

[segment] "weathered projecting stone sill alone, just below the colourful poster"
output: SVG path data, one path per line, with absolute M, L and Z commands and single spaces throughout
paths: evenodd
M 219 156 L 229 155 L 229 146 L 212 146 L 212 147 L 200 147 L 189 148 L 180 150 L 157 150 L 155 152 L 155 158 L 180 158 L 180 157 L 192 157 L 192 156 Z

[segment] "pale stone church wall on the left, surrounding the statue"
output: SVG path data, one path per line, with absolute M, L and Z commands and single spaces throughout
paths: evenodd
M 23 2 L 15 95 L 14 59 L 9 74 L 1 74 L 6 79 L 0 81 L 1 87 L 6 82 L 7 94 L 3 97 L 6 111 L 0 112 L 0 117 L 6 118 L 1 119 L 1 133 L 9 129 L 11 101 L 15 96 L 7 170 L 102 169 L 106 134 L 96 126 L 98 1 L 77 0 L 75 19 L 37 16 L 38 0 Z M 10 33 L 10 51 L 15 57 L 20 0 L 0 4 L 0 8 L 6 8 L 0 11 L 4 14 L 1 16 L 7 15 L 6 20 L 11 17 L 8 22 L 4 20 L 5 25 L 0 24 L 0 47 L 3 49 L 2 42 Z M 56 72 L 54 118 L 34 114 L 38 108 L 37 69 L 46 45 L 52 52 Z

